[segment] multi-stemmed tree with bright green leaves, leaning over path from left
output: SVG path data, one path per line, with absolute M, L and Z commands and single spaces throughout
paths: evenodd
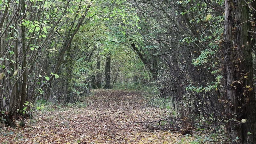
M 49 89 L 44 92 L 45 86 L 51 86 L 52 80 L 59 78 L 56 73 L 63 66 L 74 36 L 93 16 L 87 15 L 91 5 L 90 1 L 80 0 L 0 1 L 0 98 L 4 99 L 0 110 L 6 124 L 15 127 L 13 119 L 17 111 L 24 120 L 30 103 L 49 92 Z M 63 37 L 62 28 L 66 28 Z M 61 46 L 56 44 L 61 40 Z M 55 56 L 52 60 L 55 66 L 50 71 L 47 64 L 52 62 L 51 56 Z

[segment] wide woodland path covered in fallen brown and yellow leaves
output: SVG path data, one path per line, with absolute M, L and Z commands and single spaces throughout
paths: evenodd
M 85 106 L 45 105 L 26 119 L 25 127 L 2 128 L 0 143 L 174 144 L 194 139 L 132 123 L 152 116 L 140 92 L 95 90 L 84 101 Z

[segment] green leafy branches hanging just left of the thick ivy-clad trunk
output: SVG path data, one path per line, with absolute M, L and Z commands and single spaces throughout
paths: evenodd
M 221 59 L 219 57 L 219 42 L 223 34 L 222 23 L 224 21 L 224 15 L 213 15 L 210 13 L 212 10 L 208 9 L 208 4 L 205 2 L 197 3 L 194 6 L 190 0 L 178 1 L 178 4 L 182 4 L 185 7 L 184 11 L 181 12 L 181 15 L 189 14 L 193 12 L 194 17 L 191 17 L 190 23 L 193 24 L 196 22 L 201 25 L 196 32 L 199 37 L 195 36 L 185 36 L 183 39 L 180 39 L 181 44 L 195 44 L 200 52 L 194 51 L 197 56 L 192 60 L 192 64 L 200 68 L 207 68 L 208 72 L 212 73 L 216 81 L 209 82 L 207 86 L 194 86 L 194 84 L 189 84 L 186 87 L 188 91 L 194 92 L 210 92 L 212 90 L 217 91 L 218 87 L 221 85 Z M 215 3 L 215 2 L 213 2 Z M 223 4 L 224 1 L 218 1 L 218 4 Z M 192 6 L 192 7 L 191 7 Z M 205 32 L 207 31 L 207 32 Z M 202 47 L 200 47 L 200 46 Z

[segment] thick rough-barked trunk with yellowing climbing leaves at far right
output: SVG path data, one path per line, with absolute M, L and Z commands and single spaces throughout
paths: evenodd
M 227 129 L 230 137 L 235 140 L 233 143 L 242 144 L 256 143 L 256 102 L 253 89 L 251 36 L 248 35 L 248 30 L 249 9 L 244 0 L 226 0 L 222 43 L 226 88 L 223 105 L 229 120 Z M 236 141 L 237 137 L 239 139 Z

